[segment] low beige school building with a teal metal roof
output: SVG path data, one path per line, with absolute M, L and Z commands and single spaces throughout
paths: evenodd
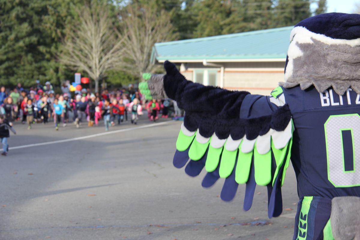
M 293 26 L 156 43 L 151 61 L 180 64 L 190 81 L 269 95 L 284 81 Z

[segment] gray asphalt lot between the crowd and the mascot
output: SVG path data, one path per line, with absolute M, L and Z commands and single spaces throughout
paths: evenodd
M 266 187 L 257 187 L 244 212 L 244 186 L 226 203 L 219 198 L 222 181 L 203 189 L 204 172 L 192 178 L 172 166 L 180 125 L 143 116 L 137 126 L 128 121 L 103 134 L 102 122 L 59 131 L 53 124 L 31 130 L 15 124 L 18 134 L 0 158 L 0 239 L 292 239 L 293 169 L 283 186 L 282 216 L 267 218 Z

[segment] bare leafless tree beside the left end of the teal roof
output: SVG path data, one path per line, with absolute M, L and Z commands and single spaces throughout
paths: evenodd
M 125 71 L 141 76 L 144 72 L 154 73 L 161 69 L 150 59 L 152 47 L 157 42 L 167 42 L 176 39 L 170 14 L 160 10 L 154 4 L 129 4 L 121 14 L 122 32 L 124 36 L 123 62 Z

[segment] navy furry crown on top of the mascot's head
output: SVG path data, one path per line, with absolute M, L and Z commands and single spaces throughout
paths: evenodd
M 306 18 L 295 27 L 305 27 L 311 32 L 333 39 L 358 39 L 360 38 L 360 14 L 324 13 Z

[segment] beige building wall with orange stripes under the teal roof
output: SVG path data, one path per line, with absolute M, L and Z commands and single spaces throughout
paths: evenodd
M 285 62 L 246 62 L 216 63 L 224 65 L 224 88 L 249 91 L 252 94 L 269 95 L 271 90 L 284 81 Z M 217 72 L 217 86 L 220 86 L 220 67 L 205 67 L 202 63 L 185 63 L 181 73 L 190 81 L 195 81 L 195 73 L 204 73 L 204 85 L 207 85 L 208 72 Z

